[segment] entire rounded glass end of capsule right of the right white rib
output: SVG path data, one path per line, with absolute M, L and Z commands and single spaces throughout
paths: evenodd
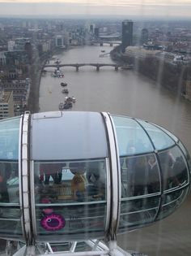
M 118 232 L 170 215 L 189 189 L 189 154 L 164 128 L 141 119 L 112 115 L 121 168 Z

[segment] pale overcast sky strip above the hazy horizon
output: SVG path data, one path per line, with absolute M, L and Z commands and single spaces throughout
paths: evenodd
M 191 0 L 0 0 L 0 15 L 136 15 L 191 18 Z

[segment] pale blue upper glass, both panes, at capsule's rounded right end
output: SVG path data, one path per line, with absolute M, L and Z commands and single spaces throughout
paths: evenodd
M 117 131 L 120 155 L 151 153 L 176 144 L 175 136 L 142 119 L 112 115 Z

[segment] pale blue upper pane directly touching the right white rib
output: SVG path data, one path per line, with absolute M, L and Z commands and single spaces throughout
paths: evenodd
M 112 115 L 117 131 L 120 156 L 152 152 L 151 141 L 142 127 L 127 117 Z

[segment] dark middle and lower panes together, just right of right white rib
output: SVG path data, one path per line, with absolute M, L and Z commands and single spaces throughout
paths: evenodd
M 154 221 L 161 192 L 155 154 L 121 159 L 121 216 L 119 230 L 134 229 Z

